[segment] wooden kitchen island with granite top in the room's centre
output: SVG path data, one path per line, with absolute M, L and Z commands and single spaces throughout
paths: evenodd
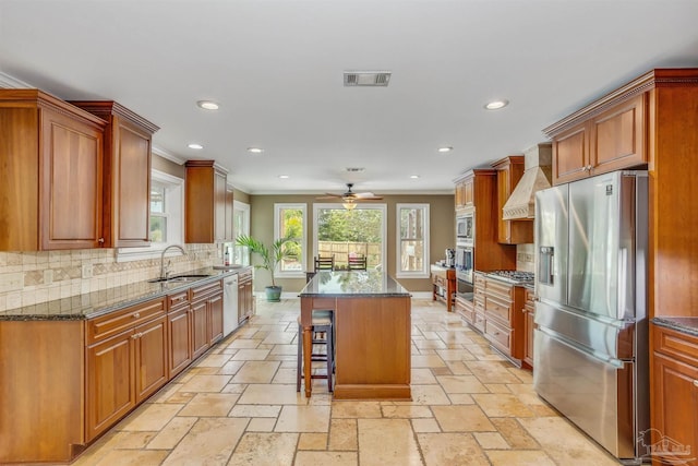
M 335 312 L 336 399 L 411 399 L 411 297 L 399 283 L 378 271 L 318 272 L 300 298 L 304 355 L 313 309 Z M 303 370 L 310 396 L 310 365 Z

